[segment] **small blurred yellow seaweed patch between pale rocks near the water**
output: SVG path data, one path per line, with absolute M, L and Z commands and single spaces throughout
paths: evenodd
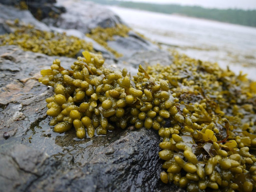
M 114 41 L 114 36 L 127 37 L 131 29 L 122 24 L 116 24 L 115 27 L 101 28 L 97 27 L 91 30 L 86 36 L 92 38 L 94 41 L 102 45 L 109 52 L 113 53 L 116 58 L 122 57 L 121 53 L 108 46 L 108 41 Z

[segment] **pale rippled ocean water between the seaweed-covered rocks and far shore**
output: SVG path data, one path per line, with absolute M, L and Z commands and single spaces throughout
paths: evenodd
M 256 80 L 256 28 L 117 6 L 108 8 L 164 49 L 217 62 L 236 74 L 242 70 Z

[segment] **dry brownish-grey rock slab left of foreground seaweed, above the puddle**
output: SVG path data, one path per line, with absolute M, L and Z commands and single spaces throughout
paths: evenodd
M 8 132 L 20 136 L 46 117 L 42 112 L 46 109 L 44 100 L 52 91 L 40 84 L 38 77 L 40 70 L 49 68 L 55 58 L 60 58 L 66 67 L 75 61 L 24 52 L 16 46 L 0 46 L 0 135 Z

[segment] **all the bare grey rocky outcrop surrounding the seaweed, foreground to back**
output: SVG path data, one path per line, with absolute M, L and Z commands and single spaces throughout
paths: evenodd
M 116 36 L 115 41 L 109 42 L 109 46 L 124 54 L 123 58 L 115 59 L 85 33 L 97 26 L 112 27 L 122 23 L 119 17 L 89 2 L 76 2 L 73 7 L 68 2 L 62 1 L 67 7 L 66 13 L 44 19 L 44 23 L 28 10 L 0 4 L 0 33 L 13 32 L 6 21 L 18 18 L 40 30 L 78 36 L 91 41 L 95 50 L 103 52 L 107 67 L 126 67 L 131 75 L 137 73 L 139 64 L 172 59 L 132 31 L 128 37 Z M 85 11 L 77 11 L 78 7 Z M 22 51 L 13 45 L 0 46 L 1 190 L 177 191 L 174 185 L 160 181 L 163 163 L 158 156 L 160 138 L 153 130 L 131 127 L 83 140 L 76 139 L 74 130 L 63 134 L 52 131 L 45 102 L 53 94 L 52 88 L 40 84 L 38 77 L 40 70 L 49 68 L 56 58 L 64 68 L 75 61 Z

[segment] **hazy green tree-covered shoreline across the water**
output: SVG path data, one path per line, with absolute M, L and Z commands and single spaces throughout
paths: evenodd
M 212 21 L 220 21 L 249 27 L 256 27 L 256 10 L 215 9 L 200 6 L 183 6 L 178 4 L 135 3 L 118 0 L 91 0 L 98 4 L 116 5 L 125 8 L 175 14 Z

